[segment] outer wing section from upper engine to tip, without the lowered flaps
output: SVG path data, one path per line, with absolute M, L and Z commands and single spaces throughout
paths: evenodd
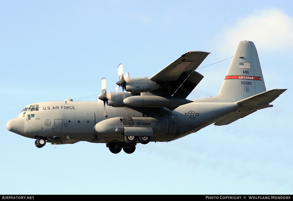
M 149 79 L 156 82 L 176 81 L 184 72 L 191 73 L 197 69 L 208 55 L 209 52 L 203 51 L 186 52 Z

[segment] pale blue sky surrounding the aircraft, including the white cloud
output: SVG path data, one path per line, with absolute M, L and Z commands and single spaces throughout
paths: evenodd
M 291 1 L 0 1 L 0 194 L 292 194 Z M 31 103 L 92 96 L 150 77 L 186 51 L 258 50 L 273 108 L 168 143 L 112 154 L 105 144 L 47 144 L 6 129 Z M 188 98 L 215 96 L 231 59 L 199 69 Z

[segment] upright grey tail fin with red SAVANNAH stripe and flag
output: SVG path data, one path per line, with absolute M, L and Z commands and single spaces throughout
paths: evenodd
M 251 41 L 240 41 L 217 98 L 237 102 L 266 91 L 258 53 Z

